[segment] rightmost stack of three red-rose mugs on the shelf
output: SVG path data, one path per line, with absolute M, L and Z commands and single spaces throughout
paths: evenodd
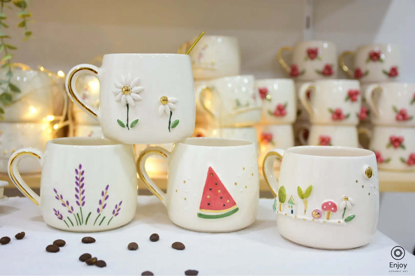
M 354 56 L 354 69 L 344 63 Z M 369 44 L 355 52 L 345 51 L 339 65 L 364 91 L 360 112 L 366 119 L 370 111 L 373 135 L 369 149 L 376 153 L 379 169 L 410 171 L 415 169 L 415 84 L 398 82 L 400 54 L 393 44 Z

